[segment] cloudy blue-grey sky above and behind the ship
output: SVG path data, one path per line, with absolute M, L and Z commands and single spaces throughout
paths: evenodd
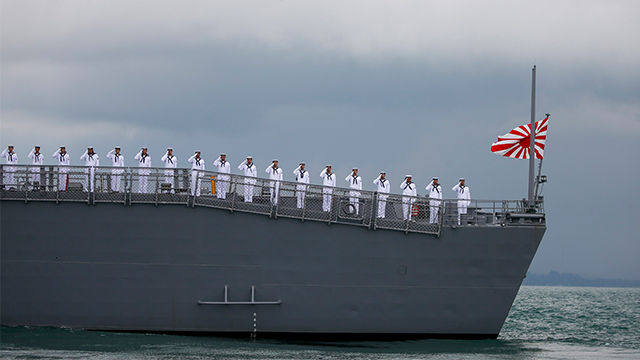
M 1 1 L 1 143 L 196 148 L 285 179 L 468 179 L 527 195 L 491 143 L 550 112 L 548 230 L 531 271 L 640 279 L 638 1 Z M 53 159 L 47 158 L 52 164 Z M 237 173 L 237 171 L 236 171 Z M 319 183 L 318 177 L 315 183 Z M 346 184 L 343 184 L 346 185 Z M 455 194 L 451 192 L 449 197 Z

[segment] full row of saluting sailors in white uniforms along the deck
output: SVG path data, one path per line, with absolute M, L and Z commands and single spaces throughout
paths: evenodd
M 5 158 L 7 164 L 17 164 L 18 156 L 13 152 L 13 146 L 9 145 L 7 149 L 5 149 L 0 157 Z M 56 150 L 53 153 L 53 157 L 58 160 L 58 165 L 61 166 L 69 166 L 70 158 L 69 154 L 66 152 L 65 146 L 61 146 L 60 149 Z M 35 146 L 33 150 L 28 155 L 29 159 L 32 159 L 32 165 L 43 165 L 44 158 L 42 154 L 40 154 L 40 147 Z M 112 160 L 112 165 L 116 168 L 124 167 L 124 156 L 121 154 L 121 148 L 116 146 L 113 150 L 109 151 L 107 154 L 107 158 Z M 93 183 L 93 172 L 94 167 L 100 165 L 100 157 L 93 150 L 92 146 L 87 148 L 87 151 L 80 156 L 81 160 L 85 161 L 85 166 L 88 168 L 85 172 L 88 175 L 87 180 L 83 184 L 85 190 L 89 190 L 93 192 L 94 183 Z M 148 149 L 143 147 L 135 156 L 134 159 L 138 161 L 138 166 L 145 168 L 151 167 L 151 156 L 148 153 Z M 160 158 L 160 161 L 164 162 L 165 168 L 167 169 L 175 169 L 178 166 L 178 158 L 173 155 L 173 149 L 168 148 L 167 152 Z M 195 196 L 200 195 L 200 187 L 197 186 L 198 178 L 203 176 L 203 173 L 198 170 L 205 170 L 205 161 L 201 157 L 201 151 L 197 150 L 194 155 L 192 155 L 189 160 L 191 163 L 191 194 Z M 221 174 L 218 176 L 218 188 L 216 189 L 217 197 L 220 199 L 225 199 L 227 194 L 228 182 L 230 180 L 229 175 L 231 173 L 231 164 L 227 161 L 227 155 L 225 153 L 220 154 L 220 156 L 213 162 L 213 166 L 218 168 L 218 172 Z M 302 208 L 304 205 L 305 198 L 305 189 L 306 184 L 309 184 L 309 175 L 307 170 L 305 170 L 305 163 L 301 162 L 300 165 L 293 170 L 293 174 L 296 177 L 296 181 L 299 183 L 297 186 L 297 206 Z M 253 163 L 253 157 L 247 156 L 247 158 L 238 166 L 238 169 L 244 172 L 245 178 L 245 186 L 244 186 L 244 201 L 252 202 L 253 201 L 253 188 L 256 184 L 256 180 L 253 179 L 258 176 L 258 171 Z M 11 169 L 7 169 L 8 171 L 5 173 L 5 185 L 13 184 L 13 174 L 11 173 Z M 39 172 L 38 169 L 32 169 L 34 172 Z M 60 168 L 59 169 L 59 190 L 65 190 L 66 185 L 68 183 L 68 177 L 66 173 L 68 169 Z M 280 188 L 280 181 L 283 180 L 283 172 L 282 169 L 278 166 L 278 160 L 274 159 L 271 162 L 265 172 L 269 174 L 269 179 L 272 180 L 270 183 L 270 196 L 273 205 L 277 205 L 278 201 L 278 191 Z M 124 173 L 123 169 L 113 169 L 113 175 L 121 175 Z M 147 192 L 147 176 L 149 175 L 148 171 L 143 171 L 139 173 L 138 179 L 138 190 L 141 193 Z M 173 189 L 173 181 L 174 181 L 174 171 L 173 170 L 165 170 L 165 183 L 171 184 L 171 189 Z M 34 174 L 35 178 L 39 177 L 39 175 Z M 325 168 L 320 173 L 320 177 L 323 179 L 323 202 L 322 202 L 322 210 L 323 211 L 331 211 L 331 199 L 333 194 L 333 187 L 336 186 L 336 176 L 331 172 L 331 165 L 327 164 Z M 402 183 L 400 184 L 400 188 L 402 189 L 402 194 L 405 195 L 403 197 L 403 218 L 404 220 L 411 220 L 412 216 L 412 203 L 416 201 L 415 198 L 411 198 L 409 196 L 417 196 L 417 186 L 414 182 L 411 181 L 412 176 L 406 175 Z M 349 192 L 349 201 L 353 206 L 352 209 L 354 213 L 358 213 L 360 211 L 360 202 L 358 198 L 360 197 L 360 193 L 357 190 L 362 190 L 362 178 L 358 175 L 358 169 L 353 168 L 351 173 L 345 178 L 345 181 L 349 182 L 349 188 L 352 191 Z M 373 180 L 373 183 L 378 187 L 379 193 L 379 201 L 378 201 L 378 217 L 384 218 L 386 213 L 386 203 L 388 194 L 390 192 L 390 184 L 386 179 L 386 172 L 381 171 L 380 175 Z M 121 176 L 112 176 L 111 177 L 111 189 L 113 191 L 120 191 L 121 185 Z M 442 187 L 438 183 L 438 178 L 434 177 L 432 181 L 425 188 L 427 190 L 427 197 L 430 198 L 430 216 L 429 220 L 431 223 L 437 222 L 438 219 L 438 211 L 440 201 L 442 200 Z M 460 222 L 460 214 L 467 213 L 467 207 L 470 204 L 471 194 L 469 188 L 465 185 L 465 179 L 460 178 L 459 182 L 451 189 L 455 191 L 458 195 L 458 222 Z M 173 190 L 172 190 L 173 191 Z

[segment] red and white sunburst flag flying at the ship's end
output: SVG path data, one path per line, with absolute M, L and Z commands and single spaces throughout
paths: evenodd
M 536 121 L 535 151 L 536 159 L 544 156 L 544 144 L 547 141 L 547 125 L 549 117 Z M 491 151 L 498 155 L 516 159 L 529 159 L 531 146 L 531 124 L 520 125 L 508 133 L 498 136 L 498 141 L 491 144 Z

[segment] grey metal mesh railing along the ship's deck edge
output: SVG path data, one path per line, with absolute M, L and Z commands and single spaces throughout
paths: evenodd
M 0 200 L 183 204 L 436 235 L 545 221 L 542 201 L 436 200 L 190 169 L 2 165 L 0 181 Z

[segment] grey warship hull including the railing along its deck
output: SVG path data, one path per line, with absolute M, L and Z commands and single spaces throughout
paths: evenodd
M 190 169 L 12 166 L 0 186 L 0 323 L 104 331 L 212 333 L 312 339 L 496 338 L 546 230 L 542 202 L 472 200 L 458 225 L 457 200 L 281 182 L 272 206 L 267 179 L 230 175 L 218 199 L 217 173 Z M 6 173 L 6 166 L 2 172 Z M 34 177 L 34 172 L 37 176 Z M 38 176 L 39 175 L 39 176 Z M 94 192 L 81 185 L 94 176 Z M 39 177 L 39 178 L 38 178 Z M 2 178 L 2 177 L 0 177 Z M 40 180 L 40 181 L 37 181 Z

